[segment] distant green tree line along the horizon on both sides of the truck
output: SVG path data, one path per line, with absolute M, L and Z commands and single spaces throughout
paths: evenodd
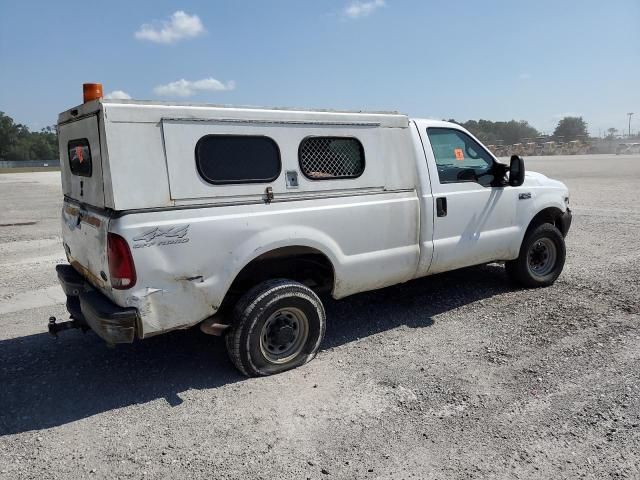
M 492 122 L 491 120 L 469 120 L 458 123 L 487 145 L 502 141 L 504 145 L 522 143 L 526 139 L 541 136 L 540 132 L 525 120 Z M 552 138 L 569 142 L 587 138 L 587 124 L 582 117 L 564 117 L 558 122 Z M 0 160 L 54 160 L 58 158 L 58 138 L 55 127 L 46 127 L 32 132 L 25 125 L 15 123 L 13 118 L 0 112 Z

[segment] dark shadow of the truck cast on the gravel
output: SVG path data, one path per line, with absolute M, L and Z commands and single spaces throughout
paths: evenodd
M 436 275 L 340 301 L 327 300 L 323 350 L 511 291 L 503 268 L 486 265 Z M 45 319 L 42 319 L 43 326 Z M 180 392 L 244 380 L 224 342 L 198 329 L 115 349 L 92 332 L 46 333 L 0 341 L 0 435 L 40 430 Z M 213 392 L 212 392 L 213 393 Z

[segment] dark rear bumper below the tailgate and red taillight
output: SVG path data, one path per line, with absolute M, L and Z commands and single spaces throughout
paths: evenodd
M 67 310 L 108 343 L 131 343 L 136 335 L 138 310 L 120 307 L 95 290 L 71 265 L 56 265 L 58 280 L 67 295 Z

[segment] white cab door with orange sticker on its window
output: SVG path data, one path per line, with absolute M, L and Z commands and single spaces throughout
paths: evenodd
M 462 129 L 426 127 L 420 135 L 434 198 L 429 273 L 515 258 L 516 192 L 496 183 L 496 159 Z

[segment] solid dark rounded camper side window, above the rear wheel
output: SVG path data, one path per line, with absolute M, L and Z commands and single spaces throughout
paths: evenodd
M 269 137 L 206 135 L 196 144 L 196 165 L 214 185 L 266 183 L 280 175 L 280 150 Z

